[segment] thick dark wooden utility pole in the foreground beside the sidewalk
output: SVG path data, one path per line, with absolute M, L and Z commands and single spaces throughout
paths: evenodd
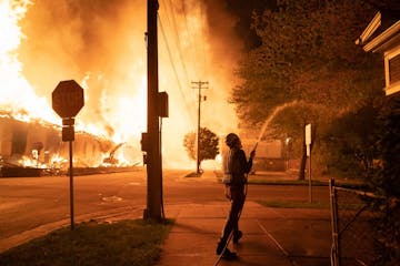
M 159 125 L 159 85 L 158 85 L 158 35 L 157 12 L 158 0 L 148 0 L 148 121 L 147 133 L 142 135 L 142 150 L 146 151 L 147 163 L 147 209 L 143 218 L 161 219 L 162 172 Z

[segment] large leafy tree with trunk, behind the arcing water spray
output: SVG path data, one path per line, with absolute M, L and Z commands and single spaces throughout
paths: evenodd
M 254 16 L 262 44 L 241 61 L 242 83 L 231 102 L 242 121 L 258 124 L 282 104 L 296 101 L 294 121 L 321 130 L 330 121 L 382 96 L 380 57 L 354 44 L 376 10 L 362 0 L 282 0 Z M 288 112 L 283 110 L 282 113 Z M 281 133 L 292 125 L 274 120 Z M 313 132 L 318 137 L 318 131 Z M 304 144 L 301 144 L 304 146 Z M 299 178 L 304 178 L 303 149 Z

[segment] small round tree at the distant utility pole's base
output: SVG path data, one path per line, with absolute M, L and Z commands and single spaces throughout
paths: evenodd
M 183 146 L 186 147 L 188 155 L 192 160 L 197 160 L 197 150 L 196 150 L 196 133 L 190 132 L 184 135 Z M 214 160 L 218 152 L 219 139 L 216 133 L 211 132 L 207 127 L 200 129 L 200 163 L 203 160 Z

